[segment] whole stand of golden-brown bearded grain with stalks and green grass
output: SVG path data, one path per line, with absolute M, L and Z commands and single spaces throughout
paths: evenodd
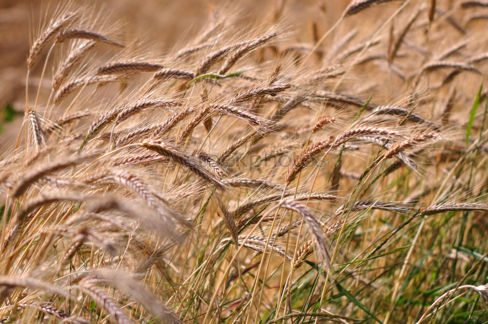
M 383 2 L 164 53 L 61 7 L 0 161 L 1 323 L 486 318 L 485 2 Z

